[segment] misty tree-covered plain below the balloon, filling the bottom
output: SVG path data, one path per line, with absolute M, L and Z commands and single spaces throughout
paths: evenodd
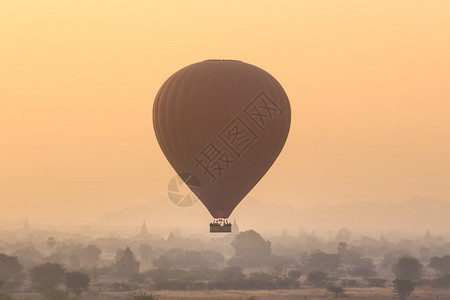
M 450 243 L 429 232 L 0 238 L 0 300 L 450 299 Z

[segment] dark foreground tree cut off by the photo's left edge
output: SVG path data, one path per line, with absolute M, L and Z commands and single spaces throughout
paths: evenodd
M 12 292 L 25 279 L 22 265 L 15 256 L 0 253 L 0 290 Z

